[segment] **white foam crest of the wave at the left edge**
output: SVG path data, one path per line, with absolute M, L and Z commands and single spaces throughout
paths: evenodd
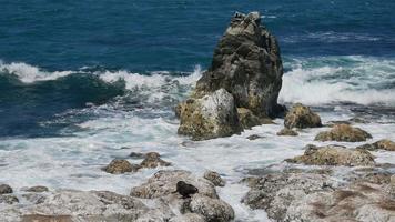
M 32 83 L 36 81 L 55 80 L 72 73 L 72 71 L 55 71 L 47 72 L 23 62 L 2 63 L 0 62 L 0 71 L 9 72 L 17 75 L 24 83 Z

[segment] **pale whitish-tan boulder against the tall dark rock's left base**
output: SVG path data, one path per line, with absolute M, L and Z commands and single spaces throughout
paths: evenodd
M 193 140 L 229 137 L 242 131 L 234 99 L 219 89 L 201 99 L 189 99 L 180 104 L 179 134 Z

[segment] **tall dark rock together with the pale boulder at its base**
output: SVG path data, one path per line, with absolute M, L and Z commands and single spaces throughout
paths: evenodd
M 267 117 L 281 114 L 284 108 L 277 104 L 277 98 L 282 75 L 277 41 L 261 26 L 260 13 L 236 13 L 214 51 L 211 67 L 198 81 L 191 98 L 176 108 L 176 115 L 181 119 L 179 133 L 194 139 L 225 137 L 241 131 L 239 122 L 249 129 L 262 124 Z M 227 95 L 219 98 L 219 90 L 222 94 L 223 91 L 229 92 L 233 101 L 230 102 Z M 202 113 L 206 105 L 201 98 L 206 97 L 217 98 L 210 104 L 210 115 L 221 112 L 221 115 L 231 117 L 226 120 L 233 124 L 231 128 L 219 121 L 213 122 L 212 118 L 205 117 L 205 111 Z M 219 105 L 223 102 L 226 109 L 217 109 L 223 107 Z M 235 119 L 233 105 L 240 114 Z

